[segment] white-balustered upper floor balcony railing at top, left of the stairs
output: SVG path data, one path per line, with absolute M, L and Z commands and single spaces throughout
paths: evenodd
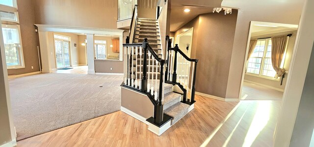
M 132 18 L 132 12 L 137 0 L 118 0 L 118 21 Z

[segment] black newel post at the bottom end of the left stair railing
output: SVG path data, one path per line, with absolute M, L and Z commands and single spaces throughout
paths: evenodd
M 155 116 L 155 123 L 160 124 L 163 120 L 163 105 L 162 105 L 162 98 L 163 98 L 163 66 L 165 64 L 165 60 L 160 60 L 160 75 L 159 75 L 159 95 L 158 95 L 158 104 L 156 108 L 156 116 Z

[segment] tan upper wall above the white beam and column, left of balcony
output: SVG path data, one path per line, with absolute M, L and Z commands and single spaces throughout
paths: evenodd
M 36 24 L 117 29 L 118 0 L 34 1 Z

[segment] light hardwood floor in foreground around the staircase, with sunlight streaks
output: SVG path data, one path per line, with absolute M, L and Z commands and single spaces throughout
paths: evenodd
M 161 136 L 118 111 L 18 142 L 18 147 L 271 147 L 281 101 L 222 102 L 195 109 Z

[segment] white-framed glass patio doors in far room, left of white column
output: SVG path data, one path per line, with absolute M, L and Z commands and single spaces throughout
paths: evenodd
M 71 37 L 53 34 L 54 36 L 54 53 L 55 53 L 55 65 L 57 69 L 70 67 L 70 41 Z

